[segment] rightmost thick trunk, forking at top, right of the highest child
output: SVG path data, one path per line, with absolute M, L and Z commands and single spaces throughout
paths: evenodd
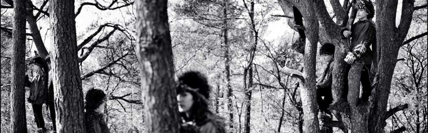
M 403 0 L 401 19 L 398 27 L 395 26 L 395 16 L 398 1 L 376 1 L 376 38 L 378 59 L 378 83 L 372 91 L 372 104 L 369 123 L 370 133 L 385 133 L 384 115 L 391 89 L 392 75 L 397 63 L 398 50 L 403 43 L 413 16 L 413 0 Z

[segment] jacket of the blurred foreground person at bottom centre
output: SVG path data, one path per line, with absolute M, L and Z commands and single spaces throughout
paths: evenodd
M 180 128 L 180 131 L 184 133 L 226 133 L 224 119 L 211 113 L 208 113 L 207 119 L 200 123 L 183 121 Z

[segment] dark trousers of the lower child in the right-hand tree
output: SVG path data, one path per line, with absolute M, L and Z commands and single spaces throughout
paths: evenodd
M 324 96 L 324 99 L 322 99 Z M 321 112 L 327 111 L 328 106 L 333 102 L 331 88 L 317 88 L 317 103 Z

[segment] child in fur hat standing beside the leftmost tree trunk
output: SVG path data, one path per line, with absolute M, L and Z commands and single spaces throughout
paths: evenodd
M 45 120 L 42 114 L 42 105 L 46 102 L 48 85 L 48 65 L 41 57 L 33 58 L 30 62 L 35 75 L 29 81 L 28 75 L 25 76 L 25 86 L 30 87 L 28 102 L 33 107 L 34 119 L 37 125 L 37 132 L 46 132 Z

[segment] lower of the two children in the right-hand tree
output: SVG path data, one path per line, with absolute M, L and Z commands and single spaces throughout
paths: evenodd
M 331 95 L 331 84 L 333 76 L 333 67 L 332 63 L 334 60 L 334 45 L 331 43 L 325 43 L 321 46 L 319 54 L 324 58 L 324 61 L 327 62 L 327 67 L 325 68 L 322 76 L 317 80 L 317 103 L 321 113 L 330 114 L 330 111 L 327 110 L 329 104 L 333 101 L 333 96 Z M 324 96 L 324 99 L 322 98 Z

